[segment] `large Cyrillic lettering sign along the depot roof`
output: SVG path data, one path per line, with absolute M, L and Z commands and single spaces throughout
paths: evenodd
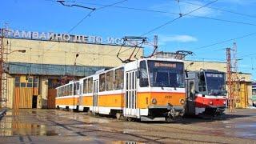
M 46 41 L 58 42 L 79 42 L 79 43 L 93 43 L 93 44 L 109 44 L 109 45 L 122 45 L 122 38 L 107 37 L 90 35 L 76 35 L 76 34 L 57 34 L 53 32 L 38 32 L 26 30 L 5 30 L 5 37 L 7 38 L 24 38 Z

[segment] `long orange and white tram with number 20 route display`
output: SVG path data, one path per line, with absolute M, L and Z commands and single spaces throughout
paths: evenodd
M 142 58 L 59 86 L 56 107 L 170 121 L 184 114 L 184 75 L 182 60 Z

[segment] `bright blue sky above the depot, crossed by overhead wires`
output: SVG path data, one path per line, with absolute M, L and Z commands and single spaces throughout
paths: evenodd
M 122 38 L 126 35 L 139 36 L 145 34 L 157 26 L 178 18 L 179 13 L 186 14 L 214 0 L 180 1 L 178 3 L 175 0 L 127 0 L 102 10 L 97 10 L 97 8 L 101 7 L 100 5 L 110 5 L 120 1 L 70 0 L 66 4 L 96 8 L 94 13 L 90 14 L 90 17 L 86 18 L 71 32 L 72 34 Z M 193 5 L 188 2 L 193 3 Z M 66 33 L 86 14 L 90 13 L 90 10 L 79 7 L 62 6 L 54 0 L 2 0 L 0 4 L 3 9 L 0 15 L 0 24 L 3 26 L 7 22 L 8 26 L 15 30 Z M 158 10 L 166 13 L 124 9 L 118 6 Z M 218 0 L 210 7 L 222 10 L 202 8 L 192 13 L 196 17 L 186 15 L 145 36 L 152 41 L 154 34 L 157 34 L 159 50 L 192 50 L 195 55 L 188 57 L 188 59 L 206 61 L 225 61 L 225 48 L 231 47 L 233 42 L 236 42 L 238 58 L 243 58 L 238 63 L 239 70 L 253 74 L 254 79 L 256 79 L 256 34 L 252 34 L 256 32 L 256 1 Z M 239 14 L 232 14 L 223 10 Z M 215 18 L 215 20 L 209 18 Z M 208 46 L 247 34 L 252 35 Z M 146 47 L 146 54 L 150 54 L 151 51 L 150 47 Z

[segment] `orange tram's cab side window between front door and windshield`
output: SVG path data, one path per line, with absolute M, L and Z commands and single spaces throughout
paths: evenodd
M 140 81 L 139 81 L 139 86 L 141 87 L 147 87 L 149 86 L 149 79 L 148 79 L 148 74 L 147 74 L 147 70 L 146 70 L 146 61 L 142 61 L 139 63 L 139 67 L 140 67 Z

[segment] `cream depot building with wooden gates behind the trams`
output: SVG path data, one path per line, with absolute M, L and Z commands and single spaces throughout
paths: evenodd
M 6 102 L 1 102 L 2 107 L 55 108 L 55 87 L 72 78 L 83 78 L 103 68 L 122 64 L 116 57 L 121 47 L 118 38 L 108 38 L 104 42 L 103 38 L 92 37 L 94 42 L 88 42 L 89 37 L 79 37 L 80 41 L 75 41 L 79 40 L 75 35 L 71 35 L 71 38 L 67 35 L 62 41 L 59 34 L 56 40 L 47 38 L 47 34 L 34 36 L 37 38 L 17 32 L 4 38 L 9 53 L 6 60 Z M 122 46 L 120 57 L 130 57 L 134 49 L 133 46 Z M 19 53 L 18 50 L 26 52 Z M 138 48 L 137 58 L 142 57 L 143 53 L 143 49 Z M 191 62 L 185 62 L 188 70 L 214 69 L 226 72 L 226 62 L 193 61 L 194 64 L 189 66 Z M 241 97 L 237 106 L 245 108 L 251 104 L 251 74 L 239 74 L 239 77 L 242 79 Z

